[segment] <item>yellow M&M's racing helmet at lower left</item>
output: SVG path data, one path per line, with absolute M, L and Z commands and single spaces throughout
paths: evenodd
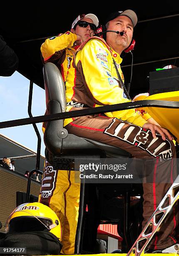
M 49 230 L 61 238 L 59 218 L 52 209 L 40 202 L 19 205 L 7 219 L 6 232 L 42 230 Z

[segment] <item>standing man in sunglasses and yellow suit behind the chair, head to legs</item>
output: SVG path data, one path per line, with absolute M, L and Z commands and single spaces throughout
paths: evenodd
M 42 62 L 54 63 L 60 69 L 64 82 L 66 81 L 68 70 L 71 68 L 75 79 L 75 68 L 72 66 L 74 53 L 82 42 L 93 36 L 98 24 L 97 16 L 92 13 L 78 15 L 73 21 L 70 31 L 48 38 L 42 44 Z M 45 126 L 46 123 L 43 124 L 43 132 L 45 131 Z M 80 184 L 75 183 L 75 172 L 54 170 L 54 177 L 51 179 L 54 183 L 51 184 L 52 190 L 50 196 L 47 197 L 43 191 L 45 190 L 44 184 L 50 181 L 48 179 L 49 168 L 52 168 L 52 166 L 46 161 L 39 202 L 49 206 L 57 214 L 62 226 L 62 236 L 59 234 L 62 237 L 62 251 L 64 254 L 73 254 L 80 200 Z

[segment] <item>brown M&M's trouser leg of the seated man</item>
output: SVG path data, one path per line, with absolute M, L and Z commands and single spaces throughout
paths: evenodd
M 103 115 L 74 118 L 74 121 L 65 128 L 76 136 L 122 148 L 137 159 L 146 159 L 146 162 L 154 159 L 152 181 L 143 182 L 144 227 L 177 177 L 174 161 L 176 151 L 173 142 L 169 139 L 163 141 L 160 135 L 154 139 L 149 130 Z M 174 228 L 177 224 L 178 212 L 172 210 L 157 236 L 151 241 L 149 248 L 163 249 L 176 243 Z

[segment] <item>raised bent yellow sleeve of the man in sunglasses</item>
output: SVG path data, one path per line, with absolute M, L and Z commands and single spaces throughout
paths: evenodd
M 76 34 L 70 31 L 60 34 L 60 36 L 46 39 L 40 48 L 44 61 L 47 61 L 55 52 L 63 52 L 67 47 L 73 46 L 76 40 Z

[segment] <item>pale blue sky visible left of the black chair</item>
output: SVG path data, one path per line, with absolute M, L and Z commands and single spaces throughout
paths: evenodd
M 11 77 L 0 77 L 0 122 L 29 117 L 27 112 L 29 86 L 30 80 L 18 72 Z M 32 115 L 44 115 L 45 109 L 45 90 L 34 84 Z M 38 123 L 37 127 L 42 138 L 41 154 L 44 156 L 42 123 Z M 3 128 L 0 129 L 0 134 L 37 152 L 37 136 L 32 125 Z

